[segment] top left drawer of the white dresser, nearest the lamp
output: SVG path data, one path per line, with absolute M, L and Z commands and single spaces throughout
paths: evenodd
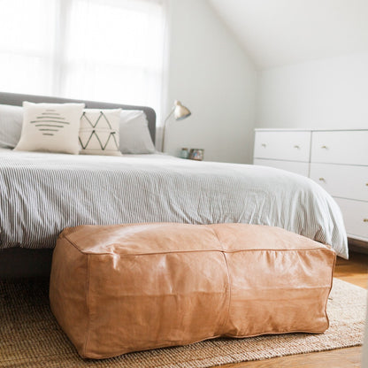
M 311 132 L 256 132 L 254 157 L 309 162 Z

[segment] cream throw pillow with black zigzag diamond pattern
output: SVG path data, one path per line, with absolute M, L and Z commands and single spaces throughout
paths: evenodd
M 121 109 L 85 109 L 80 118 L 80 153 L 121 156 L 119 121 Z

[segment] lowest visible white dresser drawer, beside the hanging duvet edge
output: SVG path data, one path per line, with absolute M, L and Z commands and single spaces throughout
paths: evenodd
M 348 235 L 368 241 L 368 202 L 341 198 L 335 200 L 341 208 Z

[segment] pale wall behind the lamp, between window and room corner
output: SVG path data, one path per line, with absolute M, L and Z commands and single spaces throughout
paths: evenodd
M 166 152 L 204 149 L 208 161 L 251 163 L 257 73 L 205 0 L 169 2 L 169 63 L 163 117 L 178 99 L 192 111 L 170 119 Z

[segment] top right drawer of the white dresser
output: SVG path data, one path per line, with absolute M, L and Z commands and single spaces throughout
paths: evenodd
M 313 132 L 311 162 L 368 165 L 368 130 Z

